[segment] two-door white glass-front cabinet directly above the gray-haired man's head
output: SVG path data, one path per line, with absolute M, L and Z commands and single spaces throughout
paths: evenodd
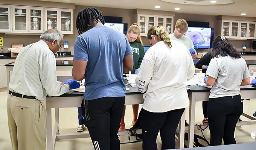
M 73 10 L 45 8 L 46 30 L 57 29 L 63 34 L 73 34 Z

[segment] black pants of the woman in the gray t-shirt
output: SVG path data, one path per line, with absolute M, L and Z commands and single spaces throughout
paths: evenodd
M 236 123 L 243 113 L 240 95 L 210 98 L 208 102 L 208 120 L 210 145 L 236 144 L 234 138 Z

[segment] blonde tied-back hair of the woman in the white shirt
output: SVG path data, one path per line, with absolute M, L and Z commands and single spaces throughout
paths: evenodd
M 148 39 L 151 39 L 151 35 L 157 35 L 159 41 L 165 42 L 169 48 L 172 47 L 169 33 L 163 26 L 153 26 L 148 30 Z

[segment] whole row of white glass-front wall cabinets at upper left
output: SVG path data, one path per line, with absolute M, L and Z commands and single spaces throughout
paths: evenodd
M 0 5 L 0 33 L 43 33 L 58 29 L 73 34 L 73 9 Z

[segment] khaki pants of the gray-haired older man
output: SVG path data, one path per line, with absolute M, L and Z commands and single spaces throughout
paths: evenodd
M 7 114 L 13 150 L 46 149 L 46 108 L 41 101 L 8 94 Z

